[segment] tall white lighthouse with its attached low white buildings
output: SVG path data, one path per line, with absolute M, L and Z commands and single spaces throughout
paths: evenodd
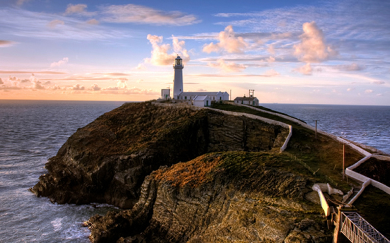
M 173 79 L 173 99 L 195 101 L 195 97 L 198 97 L 198 99 L 203 97 L 204 103 L 206 104 L 208 102 L 207 106 L 210 105 L 211 102 L 229 100 L 228 92 L 183 92 L 183 68 L 182 58 L 178 55 L 175 59 L 175 64 L 173 65 L 173 69 L 175 70 Z M 199 104 L 201 103 L 200 100 L 196 101 Z

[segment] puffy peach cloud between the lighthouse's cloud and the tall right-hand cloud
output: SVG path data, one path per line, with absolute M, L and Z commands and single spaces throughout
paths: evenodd
M 240 36 L 235 37 L 232 25 L 225 28 L 218 34 L 219 42 L 214 44 L 211 42 L 203 47 L 203 51 L 207 53 L 227 51 L 229 53 L 244 52 L 248 47 L 248 43 Z

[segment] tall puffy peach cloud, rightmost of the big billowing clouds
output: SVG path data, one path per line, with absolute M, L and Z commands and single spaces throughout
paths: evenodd
M 324 34 L 314 21 L 303 24 L 303 31 L 304 33 L 299 36 L 301 42 L 294 45 L 294 54 L 300 61 L 321 62 L 337 55 L 337 51 L 326 45 Z

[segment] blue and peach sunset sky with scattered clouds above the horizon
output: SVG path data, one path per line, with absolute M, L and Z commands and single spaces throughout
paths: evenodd
M 184 91 L 390 105 L 390 1 L 0 1 L 0 99 L 156 99 L 178 54 Z

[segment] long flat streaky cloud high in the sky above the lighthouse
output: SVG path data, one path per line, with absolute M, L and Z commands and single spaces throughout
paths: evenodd
M 164 12 L 146 6 L 127 4 L 110 5 L 101 8 L 102 21 L 111 23 L 138 23 L 182 26 L 200 21 L 194 15 L 179 11 Z

